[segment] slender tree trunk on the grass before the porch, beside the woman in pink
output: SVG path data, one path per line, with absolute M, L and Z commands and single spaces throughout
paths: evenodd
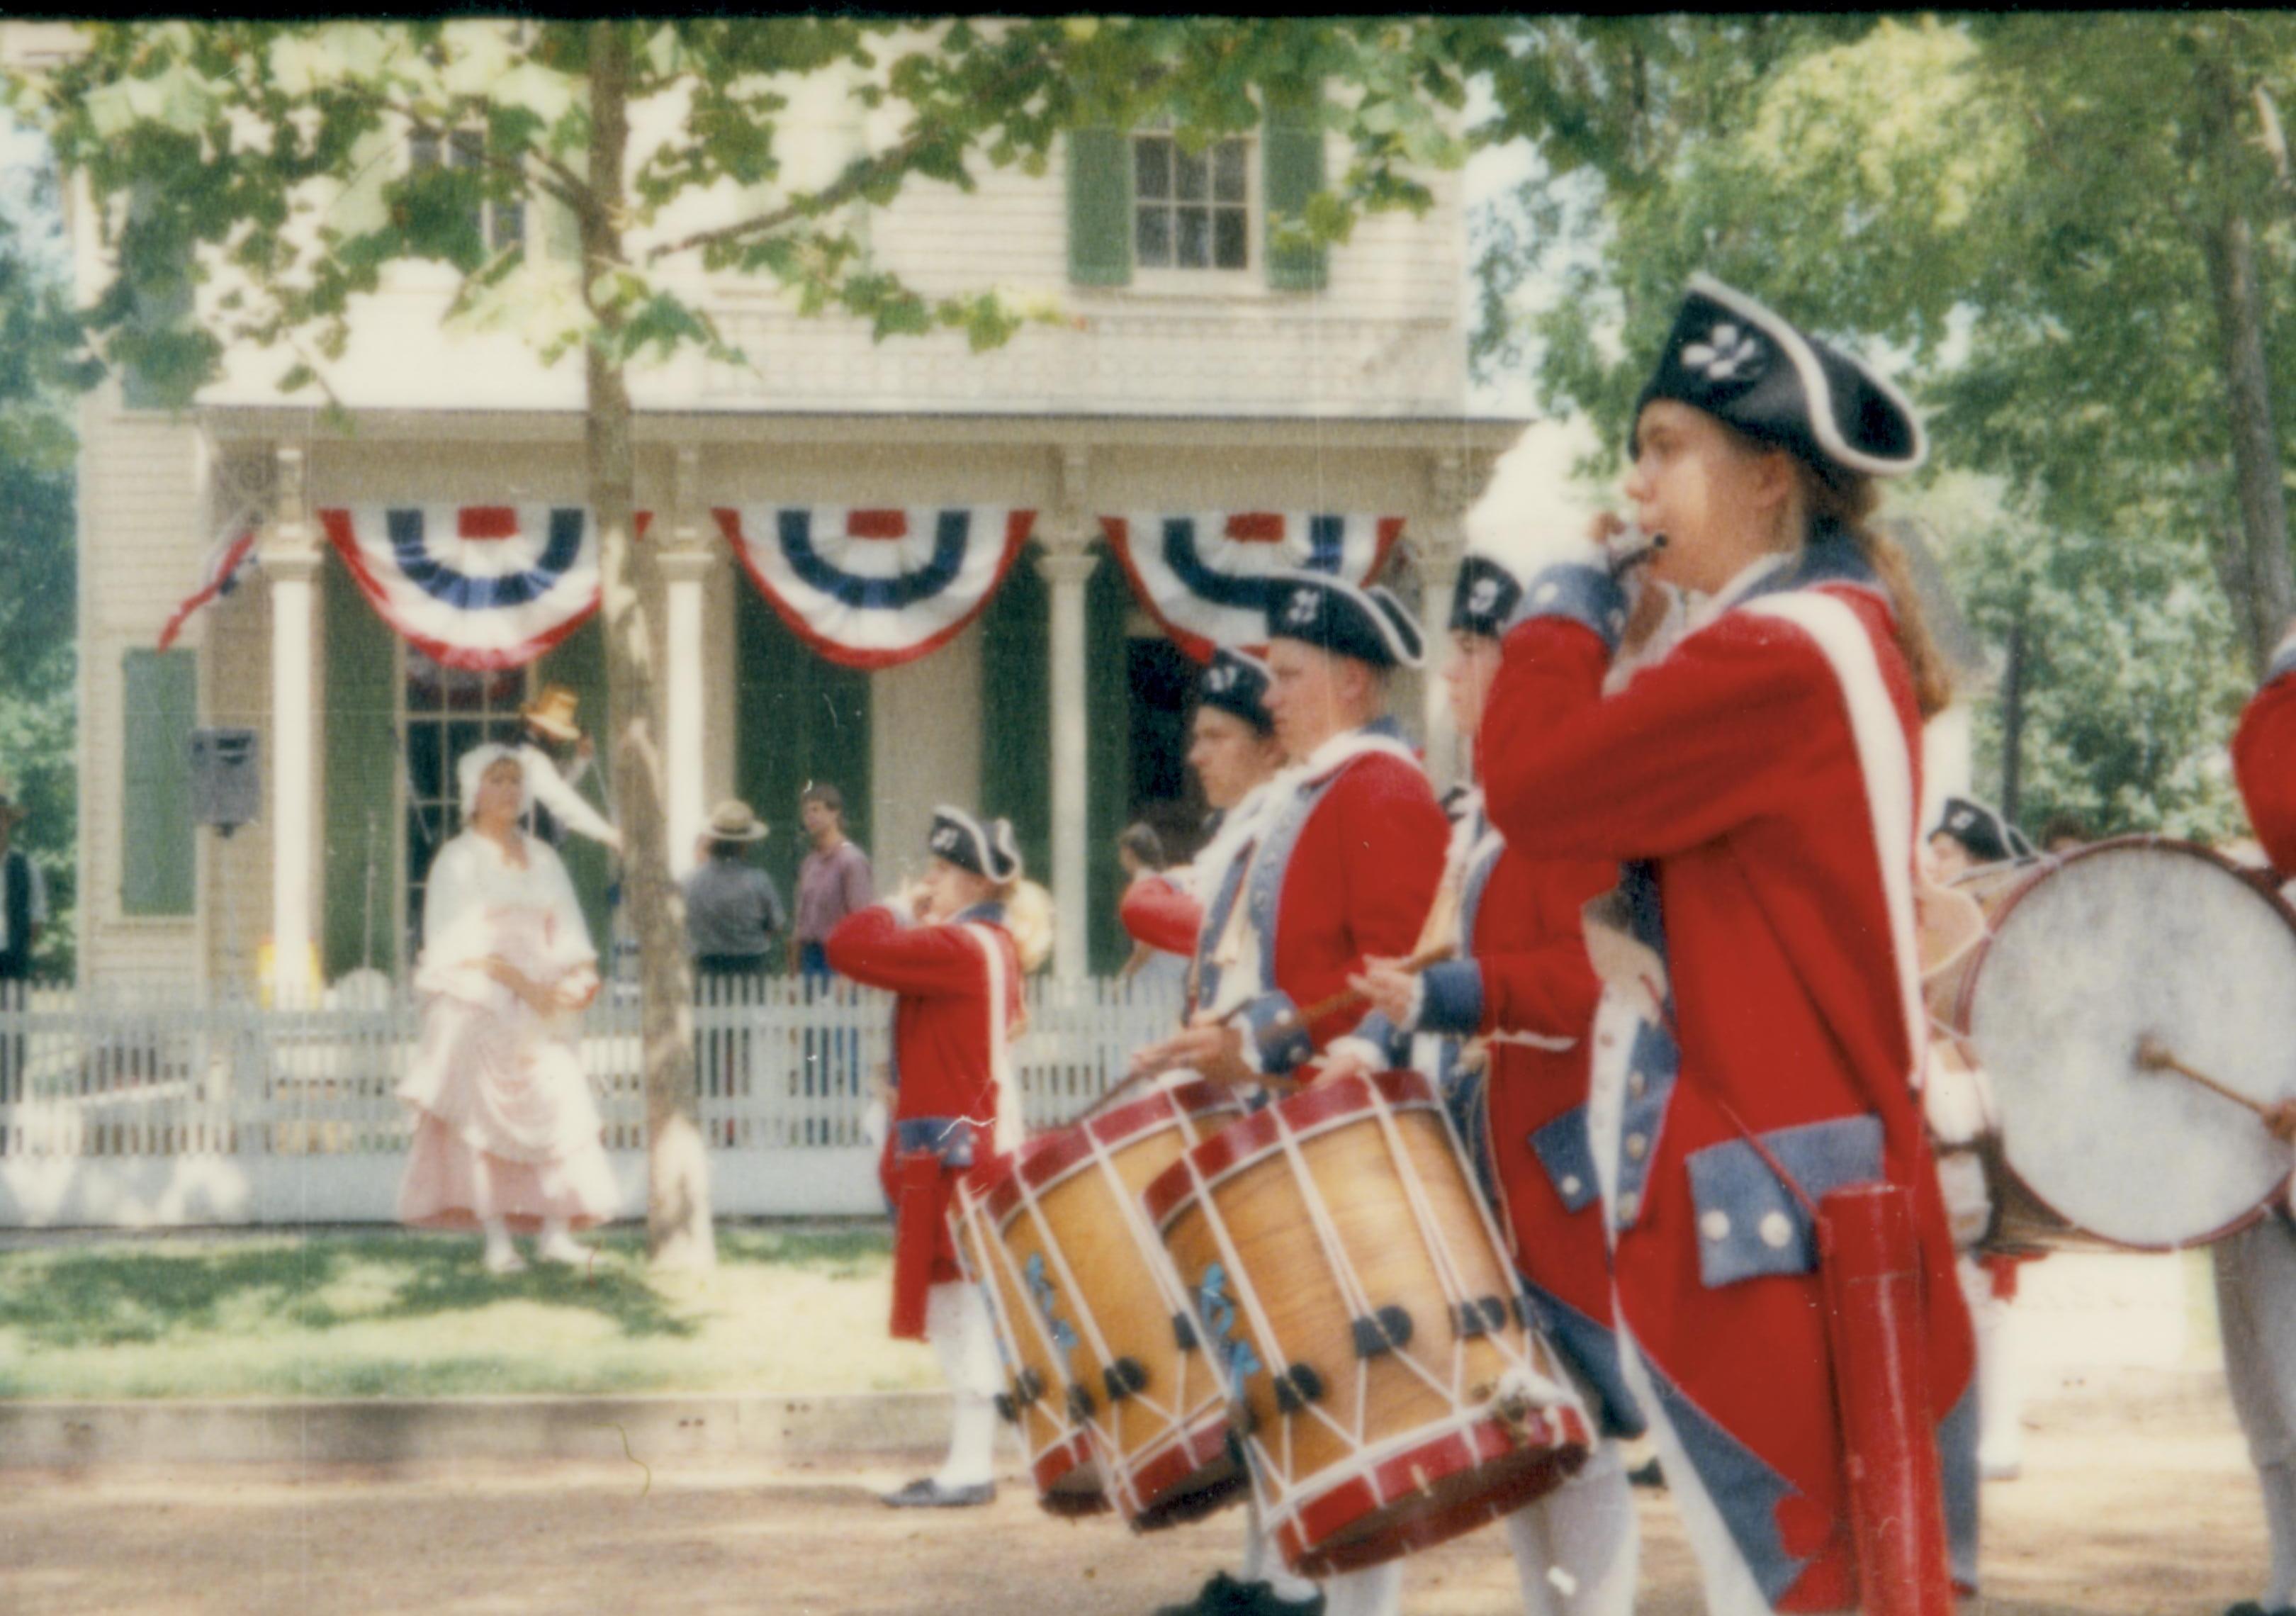
M 622 168 L 629 149 L 629 23 L 590 25 L 590 197 L 583 213 L 585 285 L 622 262 Z M 613 780 L 622 815 L 622 902 L 638 937 L 641 1063 L 645 1072 L 645 1251 L 657 1267 L 716 1265 L 709 1155 L 693 1095 L 693 976 L 687 904 L 670 879 L 668 712 L 659 659 L 668 647 L 668 590 L 652 546 L 636 544 L 636 450 L 629 386 L 615 347 L 620 314 L 599 317 L 585 351 L 583 443 L 599 535 Z

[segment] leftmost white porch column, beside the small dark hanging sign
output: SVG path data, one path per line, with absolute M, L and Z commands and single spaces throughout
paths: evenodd
M 271 590 L 271 994 L 308 1003 L 312 939 L 312 588 L 324 553 L 303 514 L 303 450 L 278 450 L 278 512 L 264 535 Z

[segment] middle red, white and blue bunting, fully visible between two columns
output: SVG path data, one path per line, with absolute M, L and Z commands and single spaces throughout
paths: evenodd
M 716 521 L 797 638 L 847 668 L 893 668 L 946 645 L 987 606 L 1035 512 L 744 505 Z

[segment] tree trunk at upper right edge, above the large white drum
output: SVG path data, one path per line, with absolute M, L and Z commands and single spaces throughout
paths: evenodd
M 2264 289 L 2257 282 L 2255 227 L 2239 207 L 2234 172 L 2241 163 L 2239 131 L 2232 126 L 2236 94 L 2223 60 L 2200 73 L 2200 129 L 2206 168 L 2223 209 L 2202 225 L 2209 259 L 2209 292 L 2216 303 L 2218 363 L 2232 427 L 2232 489 L 2241 526 L 2220 542 L 2243 546 L 2239 567 L 2220 565 L 2220 576 L 2245 576 L 2248 592 L 2232 599 L 2232 613 L 2248 645 L 2250 670 L 2259 677 L 2287 627 L 2296 583 L 2289 578 L 2289 512 L 2280 482 L 2280 436 L 2273 427 L 2271 367 L 2264 354 Z

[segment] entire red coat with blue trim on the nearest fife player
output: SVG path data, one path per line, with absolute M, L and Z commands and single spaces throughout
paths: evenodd
M 1857 1584 L 1814 1237 L 1738 1122 L 1812 1198 L 1876 1175 L 1913 1194 L 1940 1423 L 1975 1354 L 1915 1095 L 1919 718 L 1869 578 L 1846 537 L 1814 544 L 1800 588 L 1740 601 L 1605 698 L 1623 599 L 1607 574 L 1550 569 L 1476 744 L 1520 854 L 1649 861 L 1626 886 L 1671 1026 L 1644 1024 L 1626 1074 L 1616 1297 L 1786 1611 L 1841 1609 Z

